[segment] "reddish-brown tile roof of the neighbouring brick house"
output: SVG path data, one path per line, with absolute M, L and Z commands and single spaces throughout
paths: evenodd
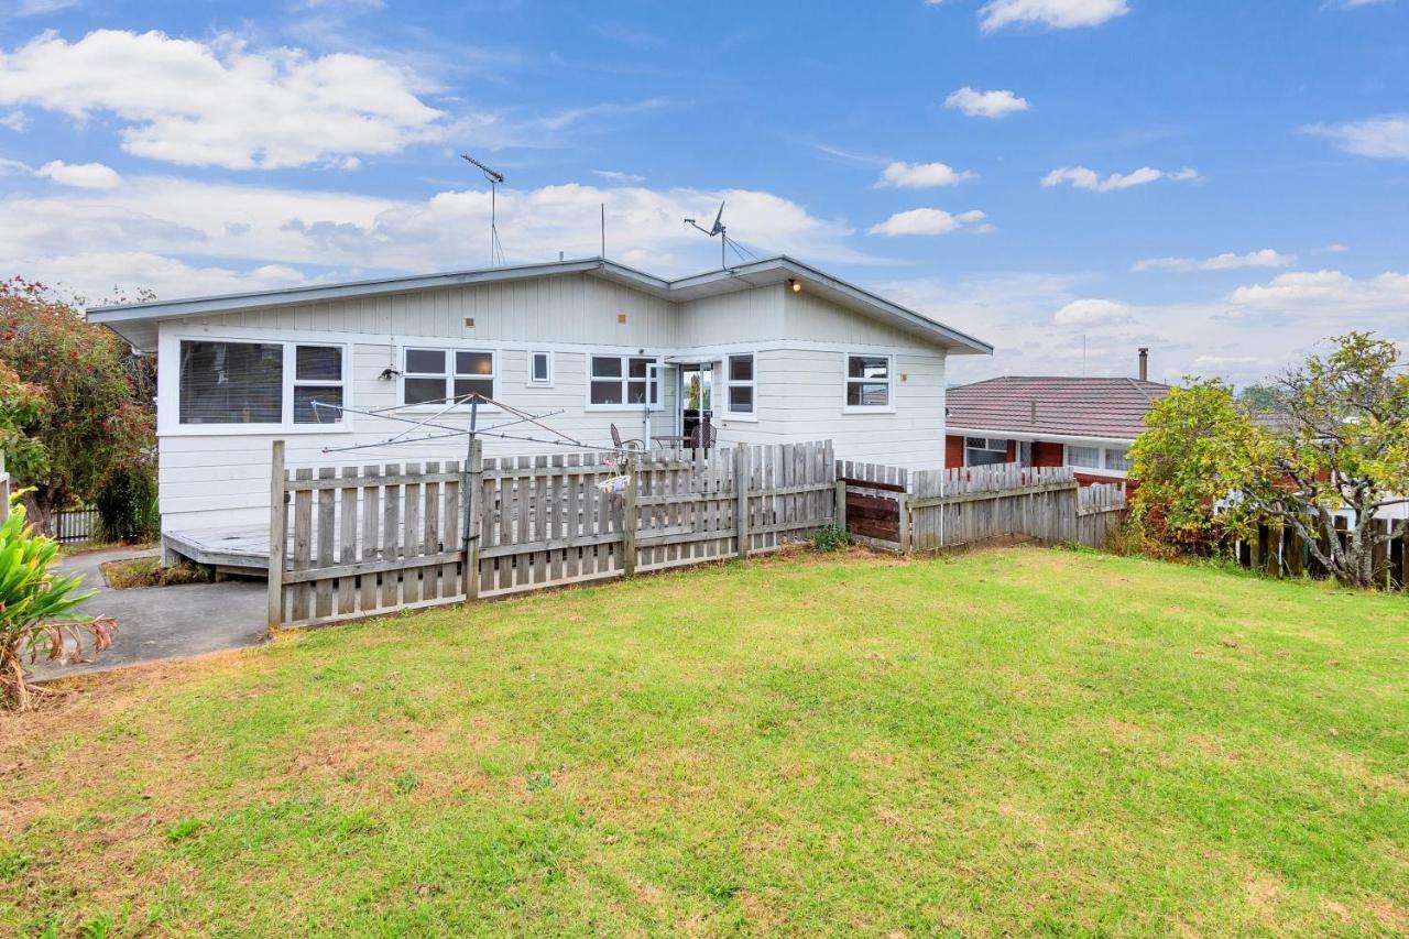
M 1134 378 L 989 378 L 948 391 L 947 424 L 995 436 L 1134 440 L 1150 406 L 1168 392 L 1168 385 Z

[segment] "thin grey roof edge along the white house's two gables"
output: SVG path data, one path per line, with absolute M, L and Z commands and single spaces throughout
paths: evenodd
M 986 355 L 993 351 L 992 345 L 974 338 L 967 333 L 944 326 L 923 313 L 900 306 L 899 303 L 888 300 L 864 288 L 848 283 L 841 278 L 824 274 L 823 271 L 803 264 L 802 261 L 782 255 L 751 264 L 741 264 L 721 271 L 697 274 L 676 281 L 666 281 L 604 258 L 583 258 L 578 261 L 554 261 L 548 264 L 524 264 L 506 268 L 480 268 L 473 271 L 454 271 L 448 274 L 379 278 L 375 281 L 321 283 L 300 288 L 285 288 L 279 290 L 256 290 L 251 293 L 227 293 L 220 296 L 104 306 L 89 310 L 89 320 L 93 323 L 104 323 L 120 333 L 128 334 L 131 327 L 139 323 L 154 323 L 156 320 L 183 316 L 210 316 L 213 313 L 234 310 L 254 310 L 273 306 L 292 306 L 297 303 L 318 303 L 354 296 L 382 296 L 389 293 L 409 293 L 414 290 L 430 290 L 471 283 L 495 283 L 569 274 L 588 274 L 604 278 L 607 281 L 624 283 L 647 293 L 676 302 L 695 300 L 704 296 L 747 290 L 750 288 L 768 286 L 796 279 L 820 296 L 859 313 L 889 321 L 910 333 L 920 334 L 930 341 L 944 345 L 951 352 Z

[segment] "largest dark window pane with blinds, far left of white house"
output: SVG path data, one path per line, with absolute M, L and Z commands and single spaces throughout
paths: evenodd
M 283 345 L 183 341 L 179 385 L 183 424 L 278 424 Z

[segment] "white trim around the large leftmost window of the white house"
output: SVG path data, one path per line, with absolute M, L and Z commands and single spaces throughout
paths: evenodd
M 249 437 L 261 434 L 349 434 L 352 431 L 352 419 L 344 416 L 342 420 L 330 424 L 296 424 L 293 423 L 293 388 L 294 388 L 294 371 L 297 369 L 297 352 L 299 345 L 321 345 L 325 348 L 337 348 L 342 352 L 342 406 L 355 407 L 356 403 L 352 400 L 352 381 L 349 381 L 349 369 L 352 368 L 352 347 L 349 343 L 330 341 L 330 340 L 311 340 L 311 338 L 273 338 L 268 336 L 211 336 L 210 333 L 175 333 L 172 336 L 163 336 L 165 341 L 169 341 L 169 358 L 168 361 L 175 361 L 176 368 L 170 369 L 169 383 L 162 383 L 161 374 L 158 374 L 158 396 L 156 396 L 156 416 L 158 416 L 158 437 Z M 279 423 L 266 424 L 183 424 L 180 422 L 180 344 L 182 343 L 238 343 L 245 345 L 282 345 L 283 347 L 283 413 Z M 303 381 L 300 385 L 335 385 L 338 382 L 330 381 Z

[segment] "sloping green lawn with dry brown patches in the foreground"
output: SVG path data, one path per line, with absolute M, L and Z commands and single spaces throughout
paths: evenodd
M 1406 640 L 1036 548 L 286 634 L 0 718 L 0 929 L 1403 932 Z

